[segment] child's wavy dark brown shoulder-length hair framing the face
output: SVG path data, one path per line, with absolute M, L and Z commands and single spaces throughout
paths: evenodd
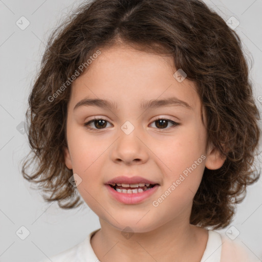
M 221 16 L 198 0 L 95 0 L 81 4 L 53 31 L 29 97 L 31 151 L 23 163 L 24 178 L 37 183 L 47 193 L 43 198 L 57 201 L 61 208 L 82 204 L 69 183 L 73 171 L 64 163 L 71 84 L 57 91 L 98 48 L 119 41 L 137 50 L 170 55 L 176 68 L 197 86 L 206 111 L 207 142 L 226 161 L 220 169 L 205 168 L 190 223 L 226 227 L 234 204 L 243 201 L 247 185 L 260 176 L 252 170 L 260 118 L 241 40 Z M 29 176 L 26 170 L 33 163 Z

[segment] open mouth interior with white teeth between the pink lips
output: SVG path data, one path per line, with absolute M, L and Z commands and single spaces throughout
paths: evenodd
M 122 183 L 112 183 L 108 184 L 114 190 L 119 193 L 125 194 L 139 194 L 143 193 L 159 184 L 150 184 L 150 183 L 139 183 L 139 184 L 122 184 Z

